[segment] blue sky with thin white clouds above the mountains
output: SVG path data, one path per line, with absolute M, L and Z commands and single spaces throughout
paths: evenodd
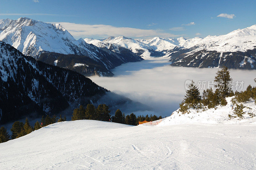
M 256 1 L 0 0 L 0 4 L 0 19 L 28 17 L 60 23 L 76 39 L 110 35 L 193 38 L 256 24 Z

